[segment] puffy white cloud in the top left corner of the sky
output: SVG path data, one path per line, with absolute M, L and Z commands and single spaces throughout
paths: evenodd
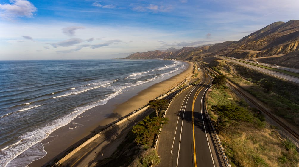
M 37 8 L 26 0 L 10 0 L 12 4 L 0 4 L 1 17 L 13 19 L 16 17 L 33 17 Z

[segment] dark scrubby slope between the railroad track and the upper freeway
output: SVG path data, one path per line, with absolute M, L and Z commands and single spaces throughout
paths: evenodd
M 241 65 L 214 60 L 213 69 L 265 103 L 272 113 L 299 127 L 299 86 Z

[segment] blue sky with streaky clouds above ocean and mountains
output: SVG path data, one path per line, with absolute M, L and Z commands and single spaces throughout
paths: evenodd
M 298 0 L 0 0 L 0 60 L 111 59 L 299 19 Z

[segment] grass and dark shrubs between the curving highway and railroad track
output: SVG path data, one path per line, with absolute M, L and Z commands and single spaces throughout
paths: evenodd
M 295 145 L 225 85 L 208 93 L 207 107 L 231 166 L 298 166 Z

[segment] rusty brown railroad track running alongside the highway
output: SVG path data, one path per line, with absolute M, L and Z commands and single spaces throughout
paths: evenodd
M 208 67 L 206 67 L 208 68 Z M 208 70 L 210 72 L 212 72 L 215 75 L 218 75 L 216 72 L 214 72 L 212 69 L 208 68 Z M 269 116 L 271 119 L 273 119 L 277 124 L 279 124 L 281 127 L 283 127 L 287 132 L 289 132 L 294 138 L 296 138 L 297 140 L 299 140 L 299 135 L 298 133 L 296 133 L 294 130 L 292 130 L 289 126 L 287 126 L 286 124 L 284 124 L 283 122 L 281 122 L 276 116 L 274 116 L 272 113 L 270 113 L 269 111 L 267 111 L 263 106 L 261 106 L 260 104 L 258 104 L 257 102 L 255 102 L 254 100 L 252 100 L 251 98 L 249 98 L 245 93 L 243 93 L 242 91 L 240 91 L 239 89 L 236 88 L 235 85 L 226 82 L 231 88 L 233 88 L 234 90 L 236 90 L 239 94 L 241 94 L 242 96 L 244 96 L 248 101 L 250 101 L 252 104 L 254 104 L 260 111 L 262 111 L 263 113 L 265 113 L 267 116 Z

